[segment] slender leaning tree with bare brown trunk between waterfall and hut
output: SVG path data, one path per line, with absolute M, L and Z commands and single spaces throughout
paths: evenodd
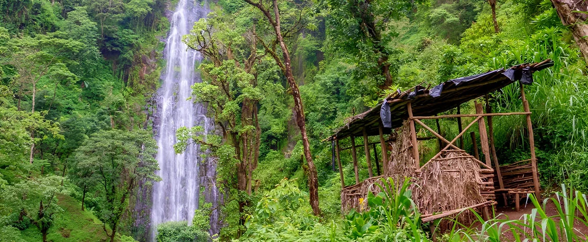
M 264 40 L 266 38 L 262 38 L 255 33 L 256 38 L 259 40 L 260 44 L 265 49 L 265 52 L 271 56 L 276 64 L 282 70 L 282 73 L 286 77 L 286 81 L 288 81 L 289 93 L 292 95 L 294 99 L 294 113 L 296 118 L 296 125 L 300 129 L 300 134 L 302 135 L 302 145 L 304 146 L 304 155 L 306 158 L 306 162 L 308 163 L 308 171 L 306 172 L 308 175 L 308 186 L 310 192 L 310 206 L 312 207 L 312 211 L 315 215 L 320 214 L 319 209 L 319 182 L 318 182 L 318 175 L 316 173 L 316 166 L 312 159 L 312 154 L 310 154 L 310 143 L 308 141 L 308 135 L 306 132 L 306 120 L 304 114 L 304 108 L 302 104 L 302 98 L 300 98 L 300 90 L 298 88 L 298 84 L 294 79 L 294 75 L 292 73 L 292 59 L 290 57 L 290 52 L 288 49 L 288 45 L 286 44 L 286 38 L 292 37 L 295 33 L 298 33 L 300 29 L 305 27 L 305 24 L 308 23 L 306 20 L 310 13 L 310 3 L 306 1 L 300 2 L 300 4 L 294 4 L 290 6 L 291 11 L 288 11 L 285 16 L 290 17 L 291 19 L 286 19 L 286 22 L 289 22 L 287 28 L 282 29 L 282 19 L 280 17 L 280 6 L 278 4 L 278 0 L 272 1 L 263 1 L 259 0 L 258 2 L 253 2 L 252 0 L 245 0 L 249 5 L 258 9 L 262 14 L 263 18 L 266 19 L 269 23 L 269 31 L 270 35 L 272 36 L 272 40 L 269 42 Z M 284 1 L 282 2 L 282 6 L 286 7 L 286 5 L 292 4 L 291 2 Z M 306 27 L 312 25 L 306 25 Z M 276 49 L 276 45 L 279 46 L 279 50 Z M 281 57 L 280 53 L 281 52 Z

